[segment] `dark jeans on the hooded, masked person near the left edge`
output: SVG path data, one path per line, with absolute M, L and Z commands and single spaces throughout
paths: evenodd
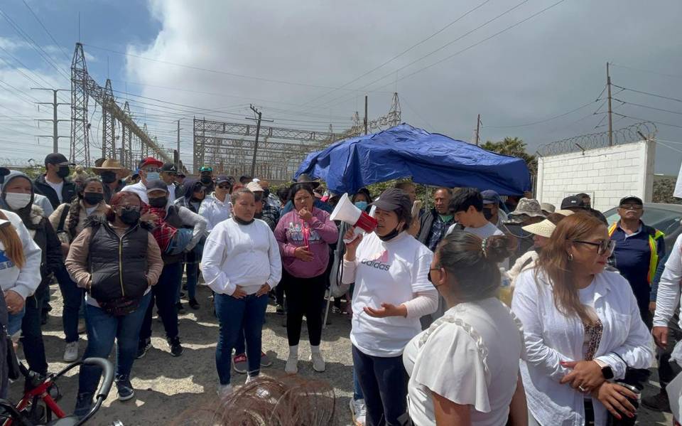
M 39 291 L 26 299 L 26 314 L 23 315 L 21 321 L 21 344 L 28 368 L 43 375 L 48 373 L 48 361 L 45 359 L 45 344 L 40 323 L 43 306 L 45 306 L 45 299 L 43 299 L 45 293 L 48 292 Z

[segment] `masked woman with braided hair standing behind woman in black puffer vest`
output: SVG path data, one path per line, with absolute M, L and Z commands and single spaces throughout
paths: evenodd
M 50 223 L 62 243 L 64 257 L 70 244 L 85 229 L 87 218 L 102 219 L 109 211 L 104 202 L 104 186 L 99 178 L 87 178 L 77 186 L 77 196 L 71 203 L 63 203 L 50 215 Z M 63 271 L 65 271 L 63 269 Z M 66 336 L 64 361 L 78 359 L 78 316 L 83 301 L 83 289 L 79 288 L 66 273 L 57 275 L 59 289 L 64 299 L 62 325 Z

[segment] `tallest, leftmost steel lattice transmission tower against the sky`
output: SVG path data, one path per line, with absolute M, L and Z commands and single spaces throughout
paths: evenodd
M 90 140 L 87 124 L 87 65 L 83 45 L 76 43 L 71 62 L 71 153 L 70 161 L 90 167 Z

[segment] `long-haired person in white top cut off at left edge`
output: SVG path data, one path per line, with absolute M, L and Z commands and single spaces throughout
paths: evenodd
M 9 336 L 21 329 L 26 298 L 40 284 L 40 261 L 40 247 L 19 215 L 0 210 L 0 286 L 9 314 Z

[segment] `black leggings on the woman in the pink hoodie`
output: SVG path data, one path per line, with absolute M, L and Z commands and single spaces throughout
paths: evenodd
M 322 339 L 322 314 L 325 299 L 326 277 L 298 278 L 282 271 L 282 284 L 286 295 L 286 336 L 289 346 L 301 340 L 303 315 L 308 321 L 308 339 L 311 346 L 319 346 Z

